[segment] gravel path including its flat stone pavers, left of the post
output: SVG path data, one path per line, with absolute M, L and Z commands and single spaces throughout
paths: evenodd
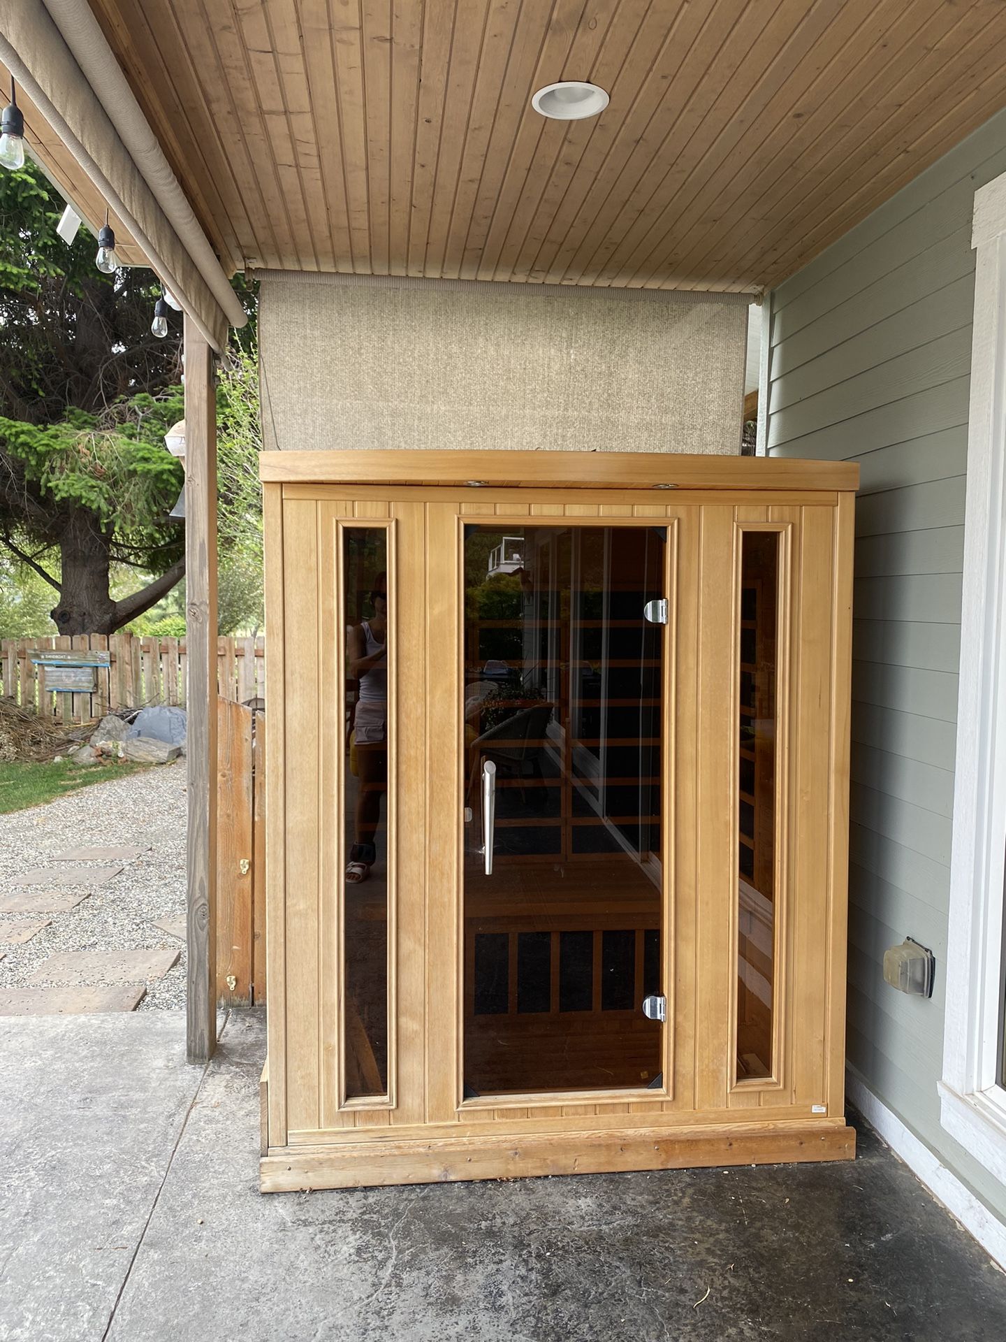
M 0 1016 L 184 1007 L 184 789 L 170 765 L 0 817 Z

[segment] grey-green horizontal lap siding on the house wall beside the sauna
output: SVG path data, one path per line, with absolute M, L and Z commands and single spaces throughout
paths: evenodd
M 849 1062 L 1006 1220 L 943 1131 L 936 1083 L 950 887 L 967 471 L 974 193 L 1006 172 L 987 122 L 771 294 L 767 450 L 860 464 L 849 872 Z M 931 1001 L 883 978 L 905 935 Z

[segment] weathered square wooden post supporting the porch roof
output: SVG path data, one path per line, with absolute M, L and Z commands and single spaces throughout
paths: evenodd
M 216 1048 L 216 388 L 213 354 L 185 317 L 185 620 L 188 643 L 186 1052 Z

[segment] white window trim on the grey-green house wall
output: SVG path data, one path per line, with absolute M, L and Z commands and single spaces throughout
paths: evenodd
M 1006 1184 L 1006 173 L 975 192 L 960 686 L 940 1122 Z

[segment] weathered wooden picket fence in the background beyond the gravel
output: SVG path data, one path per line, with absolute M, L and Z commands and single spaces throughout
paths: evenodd
M 46 668 L 32 656 L 54 650 L 107 652 L 109 667 L 95 668 L 94 694 L 46 690 Z M 117 709 L 148 703 L 185 703 L 185 639 L 138 637 L 133 633 L 82 633 L 51 639 L 4 639 L 0 643 L 3 692 L 36 713 L 64 722 L 87 722 Z M 266 640 L 217 639 L 217 690 L 223 699 L 247 703 L 266 696 Z

